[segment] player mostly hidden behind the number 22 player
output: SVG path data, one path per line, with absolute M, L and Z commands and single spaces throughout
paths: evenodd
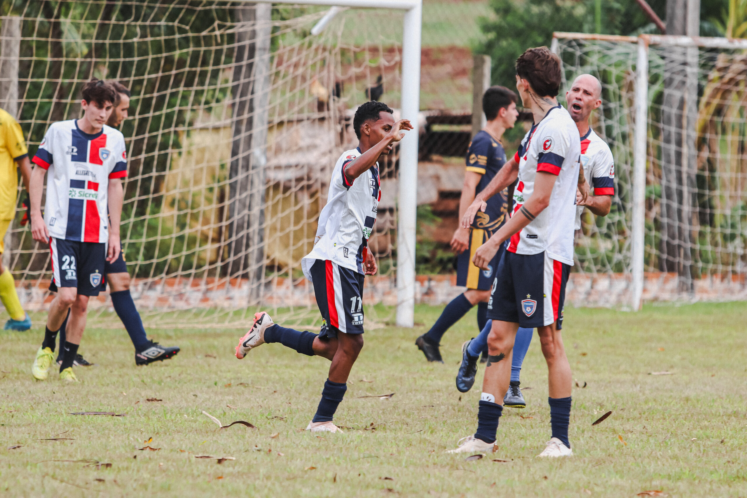
M 108 81 L 108 84 L 114 88 L 116 100 L 106 124 L 111 128 L 119 128 L 122 122 L 127 119 L 131 94 L 130 90 L 118 81 Z M 175 356 L 179 352 L 179 347 L 161 346 L 152 340 L 148 340 L 146 336 L 143 320 L 140 319 L 140 313 L 137 312 L 130 294 L 130 274 L 127 272 L 125 253 L 121 246 L 117 260 L 111 263 L 105 261 L 104 263 L 104 281 L 105 284 L 109 284 L 109 296 L 111 296 L 114 311 L 117 311 L 117 316 L 122 320 L 132 345 L 135 347 L 135 364 L 147 365 L 153 361 L 164 361 Z M 66 318 L 60 329 L 61 346 L 65 342 L 67 320 Z M 57 362 L 61 364 L 62 355 L 58 355 Z M 77 354 L 73 365 L 88 367 L 91 364 L 82 355 Z

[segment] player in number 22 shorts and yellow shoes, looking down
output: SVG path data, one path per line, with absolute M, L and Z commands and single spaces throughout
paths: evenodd
M 39 380 L 48 376 L 55 339 L 68 310 L 60 379 L 78 380 L 72 363 L 86 326 L 88 299 L 102 290 L 105 261 L 116 261 L 120 255 L 121 178 L 127 175 L 127 154 L 123 135 L 105 124 L 117 97 L 111 86 L 96 78 L 84 85 L 82 94 L 83 117 L 49 126 L 31 172 L 31 235 L 49 244 L 52 278 L 58 287 L 31 367 Z

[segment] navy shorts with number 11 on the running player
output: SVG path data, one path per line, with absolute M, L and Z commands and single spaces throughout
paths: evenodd
M 329 260 L 311 265 L 314 296 L 324 323 L 320 338 L 363 333 L 363 275 Z

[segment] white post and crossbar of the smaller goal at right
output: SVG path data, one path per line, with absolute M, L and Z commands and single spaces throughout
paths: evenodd
M 635 73 L 635 108 L 634 133 L 631 148 L 633 149 L 632 206 L 630 220 L 630 308 L 639 310 L 642 304 L 645 270 L 645 209 L 646 209 L 646 175 L 647 161 L 651 151 L 648 143 L 649 112 L 649 46 L 704 48 L 704 49 L 747 49 L 747 40 L 715 37 L 686 37 L 642 34 L 639 37 L 624 37 L 604 34 L 555 32 L 551 51 L 558 54 L 560 40 L 589 40 L 590 42 L 630 43 L 637 44 Z M 632 52 L 631 52 L 632 53 Z M 697 55 L 695 56 L 697 57 Z M 643 125 L 641 125 L 641 123 Z M 694 145 L 694 144 L 692 144 Z M 690 145 L 688 145 L 690 146 Z

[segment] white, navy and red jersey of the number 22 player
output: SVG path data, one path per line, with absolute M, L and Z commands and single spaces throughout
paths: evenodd
M 109 240 L 109 178 L 127 176 L 125 137 L 104 125 L 97 134 L 77 119 L 49 126 L 33 159 L 49 171 L 44 222 L 52 237 L 81 242 Z

